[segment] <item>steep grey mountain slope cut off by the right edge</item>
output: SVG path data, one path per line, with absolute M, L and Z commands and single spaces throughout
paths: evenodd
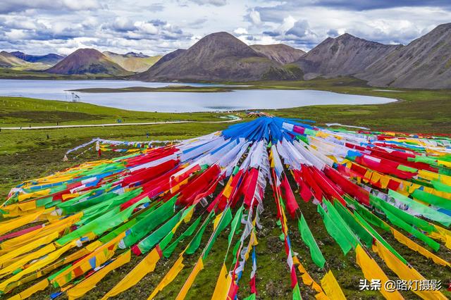
M 397 47 L 357 77 L 369 85 L 451 88 L 451 23 L 439 25 L 407 46 Z

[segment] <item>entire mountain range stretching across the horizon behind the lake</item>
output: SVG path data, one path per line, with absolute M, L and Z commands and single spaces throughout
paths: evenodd
M 451 88 L 451 23 L 407 45 L 343 34 L 305 53 L 285 44 L 250 45 L 227 32 L 206 35 L 165 56 L 78 49 L 69 56 L 0 52 L 0 68 L 144 81 L 311 80 L 350 76 L 375 87 Z M 44 70 L 47 69 L 47 70 Z

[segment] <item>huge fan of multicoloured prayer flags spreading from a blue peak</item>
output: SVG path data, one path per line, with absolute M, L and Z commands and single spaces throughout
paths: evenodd
M 268 201 L 277 209 L 274 222 L 285 246 L 293 299 L 301 299 L 302 289 L 311 289 L 317 299 L 345 299 L 302 214 L 304 205 L 316 205 L 343 254 L 354 250 L 364 277 L 380 279 L 387 299 L 402 295 L 384 289 L 390 278 L 375 256 L 401 280 L 424 276 L 378 231 L 431 263 L 451 266 L 434 254 L 440 247 L 451 249 L 449 136 L 321 128 L 261 117 L 163 146 L 93 141 L 104 149 L 139 151 L 82 163 L 11 189 L 1 206 L 0 293 L 25 299 L 53 285 L 59 292 L 52 299 L 63 294 L 77 299 L 132 256 L 142 256 L 104 295 L 108 299 L 136 285 L 178 249 L 178 259 L 149 299 L 191 268 L 177 296 L 184 299 L 221 238 L 228 246 L 212 298 L 235 299 L 240 289 L 255 299 L 257 233 Z M 297 220 L 298 228 L 290 228 L 288 218 Z M 325 271 L 319 282 L 300 263 L 292 235 L 302 237 L 311 260 Z M 185 265 L 186 256 L 197 257 L 196 263 Z M 242 284 L 245 268 L 251 270 L 249 285 Z M 28 287 L 15 294 L 21 285 Z M 414 292 L 424 299 L 446 299 L 440 291 Z

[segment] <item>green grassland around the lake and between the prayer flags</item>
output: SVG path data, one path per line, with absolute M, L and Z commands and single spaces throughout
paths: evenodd
M 374 88 L 360 85 L 359 82 L 350 80 L 340 83 L 333 80 L 317 82 L 260 82 L 257 88 L 280 89 L 323 89 L 332 92 L 366 94 L 372 96 L 386 96 L 399 99 L 392 104 L 383 105 L 359 105 L 359 106 L 309 106 L 301 108 L 281 109 L 267 111 L 285 118 L 307 118 L 322 123 L 342 123 L 346 125 L 363 125 L 372 129 L 397 130 L 405 132 L 451 132 L 451 94 L 450 91 L 428 90 L 402 90 L 403 92 L 381 92 Z M 398 89 L 399 90 L 399 89 Z M 141 113 L 133 111 L 121 111 L 115 108 L 103 108 L 89 104 L 72 104 L 60 101 L 42 101 L 33 99 L 0 98 L 0 124 L 3 126 L 54 125 L 56 122 L 63 124 L 78 123 L 106 123 L 125 118 L 128 121 L 149 122 L 152 120 L 166 120 L 176 118 L 190 118 L 192 120 L 218 120 L 216 113 L 192 113 L 192 114 L 161 114 Z M 54 173 L 56 170 L 67 168 L 70 165 L 83 161 L 97 159 L 94 151 L 88 151 L 78 158 L 63 162 L 62 158 L 67 149 L 82 144 L 92 137 L 111 139 L 126 139 L 142 141 L 149 139 L 185 139 L 204 135 L 215 130 L 222 130 L 227 124 L 200 124 L 189 123 L 183 125 L 149 125 L 149 126 L 123 126 L 123 127 L 91 127 L 91 128 L 66 128 L 56 130 L 2 130 L 0 132 L 0 198 L 8 193 L 8 190 L 23 180 L 40 177 Z M 47 138 L 49 135 L 49 138 Z M 109 157 L 111 152 L 104 154 Z M 293 185 L 294 186 L 294 185 Z M 275 223 L 276 208 L 273 203 L 271 191 L 266 191 L 265 211 L 262 216 L 263 230 L 259 232 L 259 246 L 257 246 L 257 289 L 261 299 L 290 299 L 290 275 L 286 269 L 286 258 L 283 242 L 280 241 L 280 229 Z M 377 292 L 359 292 L 359 279 L 363 278 L 362 272 L 355 263 L 354 253 L 343 256 L 340 248 L 326 232 L 323 223 L 319 220 L 314 204 L 304 203 L 297 199 L 307 223 L 312 228 L 314 237 L 319 242 L 328 265 L 337 277 L 340 286 L 349 299 L 380 299 Z M 292 248 L 299 254 L 299 258 L 315 280 L 319 281 L 324 275 L 311 261 L 309 250 L 302 243 L 297 223 L 289 220 L 290 238 Z M 209 228 L 211 230 L 211 228 Z M 442 280 L 444 285 L 451 278 L 451 272 L 445 267 L 431 263 L 423 256 L 407 249 L 385 232 L 380 232 L 383 237 L 402 255 L 407 258 L 416 270 L 419 270 L 428 279 Z M 406 234 L 406 232 L 403 232 Z M 223 232 L 204 263 L 205 269 L 199 274 L 187 298 L 209 298 L 221 268 L 223 253 L 226 250 L 228 231 Z M 202 243 L 206 243 L 209 232 L 206 232 Z M 416 240 L 419 244 L 418 240 Z M 424 246 L 424 245 L 423 245 Z M 183 245 L 178 247 L 183 249 Z M 156 266 L 154 273 L 150 273 L 135 287 L 119 295 L 117 299 L 142 299 L 149 296 L 156 284 L 161 280 L 177 258 L 175 252 L 172 258 L 163 259 Z M 438 256 L 451 261 L 451 251 L 440 247 Z M 106 291 L 121 280 L 137 263 L 134 260 L 123 268 L 109 274 L 96 288 L 89 292 L 85 299 L 99 299 Z M 166 287 L 157 299 L 173 299 L 178 293 L 194 265 L 196 257 L 188 256 L 185 264 L 187 267 L 180 273 L 173 284 Z M 377 260 L 384 272 L 393 279 L 394 275 L 385 264 Z M 249 268 L 242 277 L 239 297 L 248 295 L 247 281 Z M 24 287 L 25 288 L 25 287 Z M 301 285 L 304 299 L 313 296 L 310 290 Z M 19 292 L 19 291 L 17 291 Z M 33 296 L 34 299 L 48 297 L 53 289 L 46 289 Z M 409 292 L 403 292 L 406 299 L 417 299 Z M 451 296 L 447 294 L 447 296 Z

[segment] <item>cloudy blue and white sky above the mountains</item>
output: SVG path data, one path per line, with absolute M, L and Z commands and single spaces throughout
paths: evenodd
M 309 51 L 345 32 L 408 44 L 450 21 L 450 0 L 0 0 L 0 50 L 157 55 L 226 31 L 247 44 Z

